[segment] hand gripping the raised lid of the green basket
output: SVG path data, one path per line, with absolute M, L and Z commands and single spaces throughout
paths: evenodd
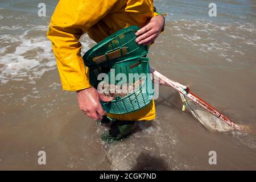
M 135 40 L 139 45 L 148 45 L 155 41 L 164 27 L 164 18 L 161 15 L 150 18 L 146 25 L 138 30 L 135 35 L 138 36 Z

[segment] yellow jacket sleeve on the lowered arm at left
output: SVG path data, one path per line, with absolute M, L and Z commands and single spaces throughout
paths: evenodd
M 64 90 L 90 87 L 79 39 L 88 28 L 104 18 L 117 1 L 60 0 L 57 4 L 47 36 L 52 42 Z

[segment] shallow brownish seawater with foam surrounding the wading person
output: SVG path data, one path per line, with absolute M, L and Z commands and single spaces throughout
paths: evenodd
M 209 132 L 187 111 L 177 92 L 160 87 L 157 118 L 108 145 L 108 127 L 81 113 L 76 93 L 61 90 L 46 38 L 57 1 L 0 2 L 0 169 L 212 170 L 256 169 L 256 3 L 154 1 L 167 13 L 164 33 L 151 46 L 151 66 L 232 118 L 246 132 Z M 82 53 L 94 45 L 81 38 Z M 46 151 L 47 165 L 38 165 Z M 216 151 L 217 165 L 209 165 Z

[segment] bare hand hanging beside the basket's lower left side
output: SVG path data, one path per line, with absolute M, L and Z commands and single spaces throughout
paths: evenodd
M 88 115 L 88 117 L 98 121 L 106 114 L 100 104 L 100 100 L 110 102 L 113 98 L 100 94 L 97 89 L 91 86 L 88 89 L 77 91 L 77 100 L 81 111 Z

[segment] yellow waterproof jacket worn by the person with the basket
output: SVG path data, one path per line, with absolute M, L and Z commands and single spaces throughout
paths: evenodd
M 87 33 L 98 43 L 122 28 L 142 27 L 155 15 L 158 14 L 154 12 L 152 0 L 60 0 L 47 36 L 52 41 L 63 89 L 75 91 L 90 87 L 88 69 L 81 56 L 82 34 Z M 121 120 L 151 120 L 155 118 L 154 101 L 134 113 L 108 115 Z

